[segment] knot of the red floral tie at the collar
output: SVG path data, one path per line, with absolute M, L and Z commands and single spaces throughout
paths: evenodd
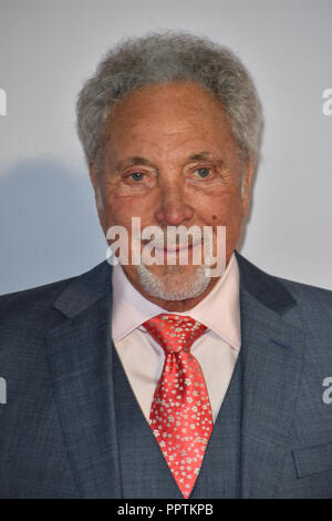
M 173 314 L 157 315 L 146 320 L 143 326 L 166 355 L 189 351 L 193 343 L 207 329 L 191 317 Z

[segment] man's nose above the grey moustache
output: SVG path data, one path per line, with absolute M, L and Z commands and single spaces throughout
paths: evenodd
M 160 198 L 155 218 L 159 225 L 178 226 L 194 216 L 194 208 L 186 201 L 180 185 L 165 183 L 160 186 Z

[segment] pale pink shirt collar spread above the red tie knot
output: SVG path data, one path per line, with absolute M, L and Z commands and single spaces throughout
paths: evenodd
M 239 267 L 235 254 L 210 290 L 187 315 L 207 326 L 235 349 L 240 348 Z M 113 268 L 112 336 L 117 341 L 160 313 L 169 313 L 145 298 L 128 280 L 121 264 Z

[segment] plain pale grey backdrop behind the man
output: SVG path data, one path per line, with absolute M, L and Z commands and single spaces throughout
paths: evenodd
M 331 0 L 0 0 L 0 293 L 105 258 L 76 94 L 120 39 L 167 29 L 228 45 L 262 100 L 241 253 L 273 275 L 332 289 L 331 20 Z

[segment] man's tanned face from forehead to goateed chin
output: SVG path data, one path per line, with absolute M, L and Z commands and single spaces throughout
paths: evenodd
M 131 247 L 132 217 L 141 217 L 142 229 L 226 226 L 227 264 L 247 212 L 251 174 L 220 103 L 196 83 L 179 82 L 146 86 L 118 102 L 107 121 L 98 176 L 91 166 L 105 234 L 124 226 Z M 190 263 L 190 254 L 187 265 L 123 269 L 144 296 L 168 310 L 189 309 L 217 282 Z

